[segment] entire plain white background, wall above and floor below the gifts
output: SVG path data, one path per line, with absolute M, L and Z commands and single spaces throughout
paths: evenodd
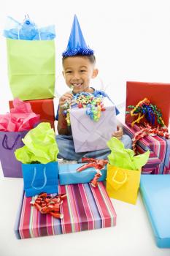
M 12 99 L 2 35 L 7 15 L 21 22 L 28 14 L 39 26 L 55 24 L 57 97 L 67 89 L 61 75 L 61 53 L 66 48 L 74 14 L 85 41 L 95 50 L 99 74 L 92 85 L 106 90 L 117 105 L 125 101 L 126 80 L 170 82 L 169 0 L 6 0 L 3 5 L 1 2 L 0 12 L 0 113 L 7 112 L 8 100 Z M 9 210 L 13 213 L 11 219 L 7 219 L 9 211 L 0 209 L 1 256 L 94 255 L 95 252 L 116 256 L 170 255 L 169 249 L 155 246 L 140 198 L 136 206 L 115 202 L 119 221 L 113 229 L 17 241 L 12 228 L 19 200 L 15 195 L 20 195 L 22 181 L 3 178 L 2 174 L 0 178 L 1 208 L 8 207 L 7 200 L 2 199 L 6 194 L 13 202 Z

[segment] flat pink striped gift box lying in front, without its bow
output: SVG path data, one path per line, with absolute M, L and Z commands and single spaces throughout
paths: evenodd
M 59 185 L 58 193 L 66 193 L 61 213 L 63 219 L 50 214 L 41 214 L 30 202 L 32 197 L 23 198 L 15 223 L 18 239 L 35 238 L 94 230 L 116 225 L 116 213 L 102 182 L 93 188 L 90 184 Z

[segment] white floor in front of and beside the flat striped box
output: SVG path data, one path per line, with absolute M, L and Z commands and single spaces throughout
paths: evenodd
M 22 178 L 4 178 L 0 170 L 1 256 L 170 255 L 170 249 L 160 249 L 155 245 L 140 195 L 136 206 L 112 200 L 117 213 L 115 227 L 18 240 L 14 224 L 22 189 Z

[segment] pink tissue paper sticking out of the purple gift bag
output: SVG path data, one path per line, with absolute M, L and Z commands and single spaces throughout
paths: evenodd
M 31 104 L 14 99 L 13 105 L 11 113 L 0 115 L 0 131 L 23 132 L 34 128 L 39 122 L 39 115 L 31 110 Z

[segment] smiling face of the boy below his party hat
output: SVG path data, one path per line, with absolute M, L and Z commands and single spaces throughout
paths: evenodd
M 63 77 L 67 86 L 74 86 L 74 93 L 90 91 L 90 79 L 96 78 L 97 74 L 98 69 L 94 69 L 87 57 L 74 56 L 63 61 Z

